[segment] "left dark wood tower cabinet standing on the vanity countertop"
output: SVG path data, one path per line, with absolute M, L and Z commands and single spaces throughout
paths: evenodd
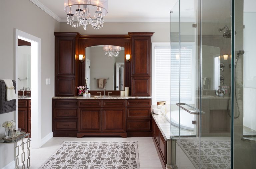
M 76 47 L 78 33 L 55 35 L 55 96 L 75 96 L 78 83 Z

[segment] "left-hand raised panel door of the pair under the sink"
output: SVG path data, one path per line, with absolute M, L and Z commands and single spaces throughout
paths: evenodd
M 101 108 L 79 109 L 79 132 L 101 132 Z

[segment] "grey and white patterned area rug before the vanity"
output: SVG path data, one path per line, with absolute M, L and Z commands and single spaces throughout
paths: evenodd
M 139 169 L 137 141 L 65 141 L 42 169 Z

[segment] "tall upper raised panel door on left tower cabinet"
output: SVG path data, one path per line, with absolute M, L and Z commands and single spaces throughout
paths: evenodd
M 56 76 L 75 76 L 75 37 L 56 38 Z

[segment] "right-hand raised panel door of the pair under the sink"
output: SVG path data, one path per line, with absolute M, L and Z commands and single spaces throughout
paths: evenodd
M 125 108 L 102 108 L 102 131 L 125 132 Z

